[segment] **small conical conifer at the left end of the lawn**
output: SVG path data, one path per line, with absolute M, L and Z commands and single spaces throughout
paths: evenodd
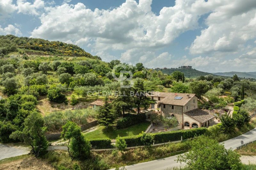
M 108 125 L 112 125 L 115 118 L 116 115 L 112 111 L 111 104 L 108 103 L 108 96 L 106 96 L 104 100 L 104 105 L 100 107 L 98 111 L 98 123 L 106 126 L 106 128 L 108 129 Z

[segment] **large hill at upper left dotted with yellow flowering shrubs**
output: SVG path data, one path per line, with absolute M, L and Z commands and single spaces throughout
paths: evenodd
M 11 52 L 36 55 L 64 55 L 81 56 L 100 59 L 84 51 L 84 49 L 60 41 L 48 41 L 40 38 L 16 37 L 14 35 L 0 35 L 0 56 Z

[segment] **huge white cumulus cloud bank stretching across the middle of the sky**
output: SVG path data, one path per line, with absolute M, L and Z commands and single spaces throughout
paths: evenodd
M 202 2 L 202 0 L 197 0 Z M 196 2 L 197 2 L 196 1 Z M 86 8 L 82 3 L 46 8 L 32 37 L 80 42 L 90 39 L 92 51 L 138 51 L 169 45 L 181 33 L 195 29 L 198 18 L 208 10 L 195 10 L 194 1 L 177 0 L 157 16 L 151 11 L 152 0 L 126 0 L 112 10 Z M 147 49 L 145 50 L 147 51 Z

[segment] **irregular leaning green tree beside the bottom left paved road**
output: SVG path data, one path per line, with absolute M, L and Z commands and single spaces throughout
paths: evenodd
M 48 147 L 48 141 L 44 136 L 46 127 L 44 119 L 38 112 L 32 112 L 25 119 L 24 129 L 12 132 L 10 138 L 19 139 L 32 147 L 32 152 L 36 157 L 44 154 Z

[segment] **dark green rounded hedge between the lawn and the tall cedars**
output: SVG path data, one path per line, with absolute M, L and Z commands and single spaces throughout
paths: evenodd
M 117 120 L 116 128 L 124 129 L 129 126 L 144 122 L 146 120 L 146 114 L 125 114 L 125 117 Z

